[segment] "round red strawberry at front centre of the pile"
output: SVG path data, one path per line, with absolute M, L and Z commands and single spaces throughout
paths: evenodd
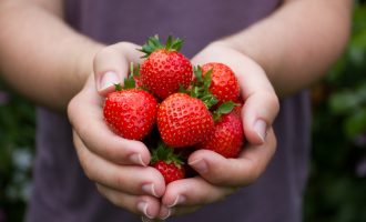
M 213 117 L 205 104 L 185 93 L 174 93 L 159 105 L 157 129 L 170 147 L 183 148 L 202 142 L 213 127 Z

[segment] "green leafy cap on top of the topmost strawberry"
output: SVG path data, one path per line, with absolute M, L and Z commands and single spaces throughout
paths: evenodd
M 150 37 L 145 44 L 142 46 L 139 51 L 145 53 L 143 58 L 149 57 L 152 52 L 159 49 L 164 49 L 166 51 L 180 51 L 183 46 L 183 40 L 180 38 L 173 38 L 169 36 L 166 39 L 165 44 L 162 44 L 159 36 L 155 34 L 154 37 Z

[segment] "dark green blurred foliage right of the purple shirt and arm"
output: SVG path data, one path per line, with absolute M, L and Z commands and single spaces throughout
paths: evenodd
M 366 221 L 366 4 L 354 11 L 344 57 L 322 87 L 313 121 L 305 221 Z

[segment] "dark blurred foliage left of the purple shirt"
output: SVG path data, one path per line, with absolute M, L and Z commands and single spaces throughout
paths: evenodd
M 0 82 L 0 221 L 22 221 L 30 194 L 34 109 Z M 8 90 L 9 92 L 9 90 Z

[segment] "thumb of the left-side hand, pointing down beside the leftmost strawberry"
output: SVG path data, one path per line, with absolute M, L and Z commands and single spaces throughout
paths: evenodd
M 94 58 L 95 85 L 101 95 L 114 90 L 114 84 L 128 77 L 130 62 L 140 63 L 139 46 L 120 42 L 100 50 Z

